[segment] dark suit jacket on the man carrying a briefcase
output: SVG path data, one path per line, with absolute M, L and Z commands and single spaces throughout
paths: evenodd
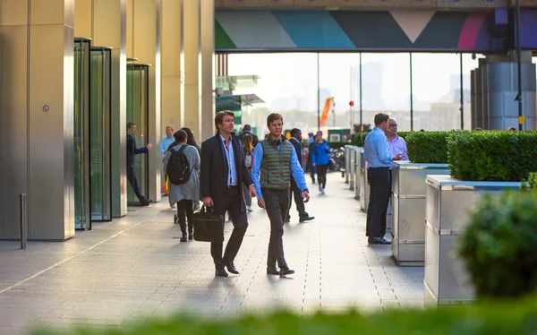
M 243 148 L 241 148 L 239 138 L 231 134 L 234 151 L 235 168 L 237 170 L 237 185 L 241 192 L 241 210 L 246 210 L 246 204 L 243 197 L 243 185 L 252 185 L 250 173 L 244 165 Z M 217 213 L 226 211 L 226 189 L 228 167 L 226 150 L 222 144 L 220 133 L 209 138 L 201 144 L 201 167 L 200 167 L 200 185 L 201 197 L 211 197 L 215 204 Z

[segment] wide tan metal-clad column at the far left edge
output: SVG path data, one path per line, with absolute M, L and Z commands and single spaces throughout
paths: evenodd
M 73 0 L 0 0 L 0 238 L 74 236 Z

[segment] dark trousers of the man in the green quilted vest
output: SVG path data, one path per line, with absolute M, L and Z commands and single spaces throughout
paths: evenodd
M 289 189 L 274 190 L 263 188 L 261 190 L 265 199 L 265 209 L 268 219 L 270 219 L 270 240 L 268 241 L 267 266 L 277 265 L 286 268 L 286 258 L 284 256 L 284 220 L 289 210 Z

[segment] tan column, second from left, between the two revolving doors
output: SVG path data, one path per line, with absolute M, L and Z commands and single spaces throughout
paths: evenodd
M 126 0 L 75 0 L 75 35 L 96 47 L 112 47 L 112 217 L 127 214 Z

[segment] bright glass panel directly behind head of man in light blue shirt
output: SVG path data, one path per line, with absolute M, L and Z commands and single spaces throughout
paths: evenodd
M 362 54 L 362 109 L 371 129 L 375 115 L 386 113 L 398 131 L 410 131 L 410 54 Z

